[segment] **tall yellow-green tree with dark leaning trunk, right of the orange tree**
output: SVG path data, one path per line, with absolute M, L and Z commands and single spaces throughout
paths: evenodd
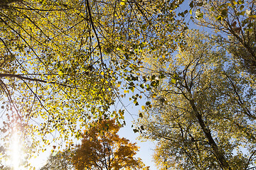
M 138 126 L 142 137 L 159 141 L 155 159 L 161 169 L 255 166 L 255 81 L 247 81 L 250 75 L 225 49 L 198 31 L 188 31 L 172 57 L 168 65 L 157 57 L 149 61 L 159 86 Z

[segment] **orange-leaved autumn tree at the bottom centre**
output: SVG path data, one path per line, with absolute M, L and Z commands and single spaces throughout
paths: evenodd
M 75 169 L 149 169 L 134 155 L 135 143 L 119 137 L 115 120 L 100 120 L 92 124 L 83 135 L 82 144 L 72 158 Z

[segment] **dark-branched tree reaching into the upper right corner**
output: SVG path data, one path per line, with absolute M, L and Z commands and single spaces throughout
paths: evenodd
M 194 21 L 220 33 L 216 42 L 224 42 L 242 69 L 255 74 L 255 1 L 191 1 L 191 6 L 196 8 Z

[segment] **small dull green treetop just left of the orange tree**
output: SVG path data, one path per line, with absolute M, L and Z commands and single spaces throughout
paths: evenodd
M 64 152 L 57 152 L 50 154 L 47 164 L 40 170 L 71 170 L 73 164 L 71 162 L 72 152 L 65 150 Z

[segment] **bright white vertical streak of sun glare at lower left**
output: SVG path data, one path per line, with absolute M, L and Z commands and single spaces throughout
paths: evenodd
M 21 139 L 18 135 L 18 132 L 16 131 L 16 128 L 14 128 L 13 135 L 11 137 L 11 166 L 14 170 L 19 170 L 20 164 L 21 164 Z

